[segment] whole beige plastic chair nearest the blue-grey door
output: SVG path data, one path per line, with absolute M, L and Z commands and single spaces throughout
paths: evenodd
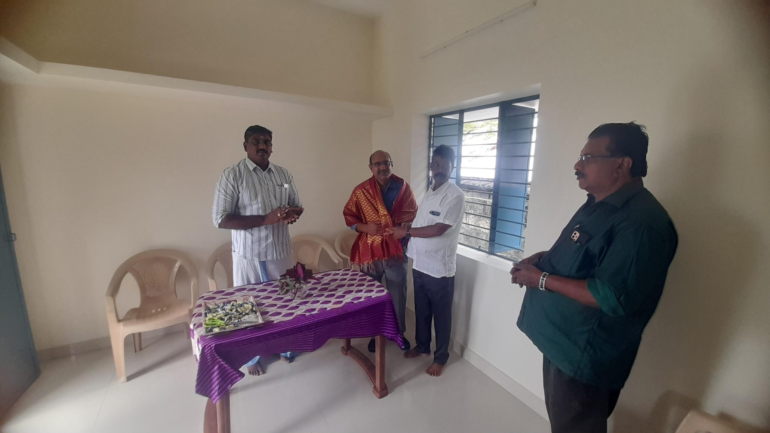
M 190 278 L 190 299 L 176 297 L 176 273 L 185 267 Z M 126 274 L 131 274 L 139 285 L 139 307 L 118 317 L 115 297 Z M 134 351 L 142 350 L 142 332 L 160 329 L 180 322 L 190 323 L 192 308 L 198 299 L 198 271 L 189 258 L 177 250 L 149 250 L 136 254 L 123 262 L 109 282 L 107 324 L 115 357 L 118 380 L 126 381 L 126 357 L 123 341 L 133 334 Z M 189 332 L 185 333 L 189 338 Z

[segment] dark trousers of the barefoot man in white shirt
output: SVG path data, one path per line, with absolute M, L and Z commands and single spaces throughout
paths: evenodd
M 452 332 L 452 299 L 454 298 L 454 277 L 436 278 L 412 270 L 414 280 L 414 316 L 416 318 L 414 340 L 415 350 L 430 354 L 430 322 L 436 327 L 436 351 L 434 362 L 447 364 L 449 360 L 449 338 Z

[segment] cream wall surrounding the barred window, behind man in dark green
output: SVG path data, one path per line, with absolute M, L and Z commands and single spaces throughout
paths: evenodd
M 427 115 L 484 96 L 524 96 L 539 84 L 527 230 L 534 253 L 551 246 L 585 200 L 572 166 L 591 129 L 647 125 L 645 184 L 671 213 L 680 245 L 615 431 L 673 431 L 692 407 L 770 427 L 765 2 L 540 0 L 418 58 L 519 4 L 395 2 L 377 27 L 384 59 L 375 86 L 393 118 L 375 122 L 373 142 L 387 136 L 386 150 L 411 155 L 411 183 L 424 188 Z M 521 289 L 503 270 L 458 262 L 454 337 L 542 397 L 541 355 L 515 325 Z

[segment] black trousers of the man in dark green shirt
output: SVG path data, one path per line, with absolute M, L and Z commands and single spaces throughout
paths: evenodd
M 552 433 L 607 433 L 621 390 L 576 381 L 543 357 L 545 407 Z

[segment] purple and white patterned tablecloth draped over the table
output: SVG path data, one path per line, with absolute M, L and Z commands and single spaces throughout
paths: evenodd
M 278 294 L 278 283 L 233 287 L 203 294 L 192 311 L 192 350 L 198 357 L 196 393 L 216 403 L 244 374 L 241 366 L 257 355 L 310 352 L 330 338 L 384 334 L 403 347 L 393 299 L 385 287 L 357 270 L 316 274 L 307 296 Z M 255 298 L 265 324 L 222 334 L 203 334 L 203 302 Z

